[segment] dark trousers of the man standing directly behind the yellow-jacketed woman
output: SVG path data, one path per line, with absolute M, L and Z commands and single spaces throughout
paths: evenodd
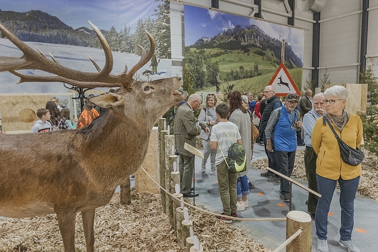
M 312 147 L 306 146 L 306 149 L 304 150 L 304 168 L 306 169 L 308 188 L 315 192 L 318 192 L 317 158 L 318 155 L 315 153 Z M 317 204 L 318 196 L 308 192 L 307 211 L 314 214 L 317 210 Z

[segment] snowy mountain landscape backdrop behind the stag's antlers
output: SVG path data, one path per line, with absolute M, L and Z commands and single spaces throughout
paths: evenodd
M 155 40 L 158 74 L 149 73 L 150 63 L 135 79 L 155 80 L 171 77 L 169 1 L 4 1 L 0 0 L 0 22 L 33 49 L 47 57 L 50 52 L 68 68 L 96 72 L 91 56 L 102 68 L 105 56 L 91 21 L 105 36 L 113 54 L 112 74 L 121 74 L 125 65 L 131 69 L 140 59 L 143 46 L 150 49 L 147 30 Z M 0 55 L 20 57 L 22 52 L 4 36 L 0 37 Z M 28 75 L 48 75 L 24 70 Z M 145 74 L 143 75 L 143 72 Z M 16 83 L 19 78 L 0 73 L 1 93 L 68 92 L 62 83 Z

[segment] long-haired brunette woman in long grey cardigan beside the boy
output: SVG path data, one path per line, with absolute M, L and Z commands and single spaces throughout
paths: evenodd
M 242 105 L 241 93 L 239 91 L 232 91 L 227 95 L 227 102 L 230 106 L 229 121 L 236 124 L 241 136 L 241 142 L 245 149 L 246 156 L 246 170 L 237 173 L 237 211 L 243 211 L 249 206 L 247 195 L 249 194 L 247 172 L 250 168 L 251 157 L 251 138 L 250 138 L 250 116 L 247 109 Z

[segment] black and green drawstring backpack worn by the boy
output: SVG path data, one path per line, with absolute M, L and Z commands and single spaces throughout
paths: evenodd
M 232 141 L 230 136 L 218 125 L 219 129 L 223 131 L 224 134 Z M 246 170 L 246 156 L 245 156 L 245 149 L 242 145 L 236 143 L 236 125 L 235 127 L 235 142 L 232 141 L 233 144 L 228 148 L 228 156 L 227 158 L 224 157 L 222 148 L 219 146 L 219 150 L 222 153 L 222 156 L 224 158 L 224 161 L 226 162 L 226 165 L 228 167 L 228 172 L 230 173 L 236 173 L 236 172 L 243 172 Z

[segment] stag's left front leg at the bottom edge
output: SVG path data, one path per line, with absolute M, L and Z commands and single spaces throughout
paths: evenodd
M 63 239 L 63 245 L 65 246 L 65 252 L 75 252 L 75 220 L 76 213 L 72 212 L 59 212 L 56 211 L 56 217 L 58 218 L 60 235 Z

